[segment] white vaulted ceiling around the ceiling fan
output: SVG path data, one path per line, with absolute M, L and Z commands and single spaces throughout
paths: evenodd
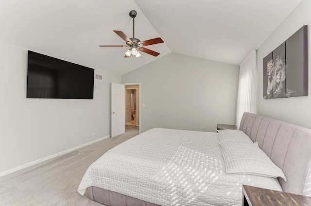
M 176 52 L 239 65 L 301 0 L 0 0 L 0 41 L 122 75 Z M 165 43 L 124 58 L 112 30 Z

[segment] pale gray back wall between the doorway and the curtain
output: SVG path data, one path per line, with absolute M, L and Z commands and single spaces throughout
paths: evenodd
M 170 53 L 122 76 L 141 83 L 141 131 L 235 124 L 239 66 Z

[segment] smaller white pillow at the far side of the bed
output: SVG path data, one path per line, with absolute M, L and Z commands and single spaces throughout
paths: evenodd
M 253 141 L 241 130 L 220 129 L 217 130 L 217 132 L 220 143 L 226 140 L 253 143 Z

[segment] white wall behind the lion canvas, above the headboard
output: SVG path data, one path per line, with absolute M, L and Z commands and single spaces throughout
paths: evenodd
M 311 0 L 302 0 L 294 11 L 277 27 L 257 50 L 258 77 L 258 114 L 287 121 L 307 128 L 311 128 Z M 303 25 L 308 25 L 309 36 L 309 96 L 290 97 L 281 99 L 263 99 L 262 88 L 262 59 Z

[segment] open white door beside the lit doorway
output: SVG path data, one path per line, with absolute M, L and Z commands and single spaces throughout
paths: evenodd
M 111 137 L 125 132 L 125 88 L 124 85 L 111 83 Z

